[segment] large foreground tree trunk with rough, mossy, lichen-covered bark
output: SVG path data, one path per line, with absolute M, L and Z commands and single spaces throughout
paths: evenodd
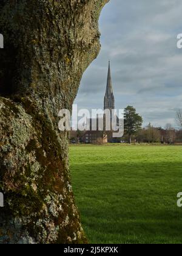
M 67 133 L 108 0 L 1 0 L 0 243 L 86 243 L 70 185 Z

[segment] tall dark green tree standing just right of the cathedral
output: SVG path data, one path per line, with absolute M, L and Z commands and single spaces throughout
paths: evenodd
M 143 123 L 142 117 L 136 113 L 136 109 L 132 106 L 127 106 L 124 109 L 124 132 L 127 135 L 128 143 L 131 143 L 132 135 L 135 135 Z

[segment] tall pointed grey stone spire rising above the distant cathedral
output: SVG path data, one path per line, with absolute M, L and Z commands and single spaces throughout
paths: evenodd
M 109 108 L 110 110 L 115 108 L 115 98 L 113 96 L 113 88 L 112 88 L 112 78 L 110 71 L 110 60 L 109 60 L 109 68 L 107 73 L 107 87 L 106 94 L 104 97 L 104 109 Z

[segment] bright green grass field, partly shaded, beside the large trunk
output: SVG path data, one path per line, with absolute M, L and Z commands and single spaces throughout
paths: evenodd
M 182 243 L 181 146 L 70 146 L 89 243 Z

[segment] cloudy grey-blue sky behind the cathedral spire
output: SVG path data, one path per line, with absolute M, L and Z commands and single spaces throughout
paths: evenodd
M 108 60 L 116 108 L 136 107 L 144 126 L 175 122 L 182 108 L 181 0 L 110 0 L 99 20 L 101 52 L 84 73 L 75 103 L 103 108 Z

